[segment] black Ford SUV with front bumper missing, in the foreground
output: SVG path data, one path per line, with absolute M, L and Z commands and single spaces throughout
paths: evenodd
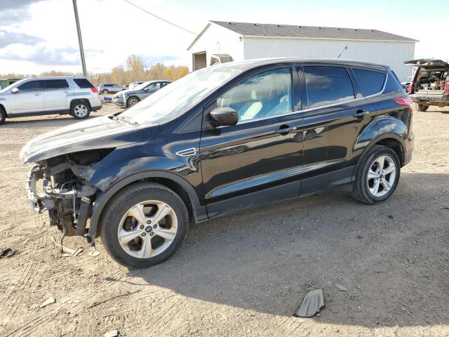
M 384 65 L 229 62 L 44 133 L 20 157 L 36 162 L 35 211 L 66 235 L 100 236 L 119 263 L 147 267 L 179 249 L 189 223 L 343 185 L 359 201 L 384 201 L 411 159 L 411 104 Z

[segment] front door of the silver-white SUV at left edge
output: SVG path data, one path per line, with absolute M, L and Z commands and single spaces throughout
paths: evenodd
M 43 112 L 43 95 L 39 79 L 27 81 L 16 88 L 19 92 L 9 95 L 10 112 L 8 114 Z

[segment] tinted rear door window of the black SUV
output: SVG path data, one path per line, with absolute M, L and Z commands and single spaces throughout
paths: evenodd
M 354 87 L 345 67 L 304 67 L 309 107 L 354 99 Z

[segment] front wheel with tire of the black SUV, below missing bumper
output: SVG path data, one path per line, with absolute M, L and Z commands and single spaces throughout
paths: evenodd
M 159 212 L 166 215 L 156 220 Z M 100 237 L 107 252 L 121 265 L 135 268 L 157 265 L 173 256 L 188 229 L 182 199 L 156 183 L 125 187 L 109 201 L 100 220 Z

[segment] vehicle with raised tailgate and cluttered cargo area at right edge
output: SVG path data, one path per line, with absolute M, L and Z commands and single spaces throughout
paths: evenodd
M 426 111 L 431 105 L 449 107 L 448 62 L 422 58 L 404 63 L 415 67 L 408 93 L 417 111 Z

